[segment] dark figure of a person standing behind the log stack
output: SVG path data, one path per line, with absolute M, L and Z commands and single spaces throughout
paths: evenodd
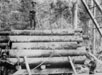
M 36 28 L 36 10 L 35 10 L 35 6 L 36 6 L 36 2 L 31 2 L 31 9 L 29 11 L 31 29 Z

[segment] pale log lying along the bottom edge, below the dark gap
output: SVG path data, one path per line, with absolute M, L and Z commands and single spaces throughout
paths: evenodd
M 44 70 L 31 70 L 31 74 L 34 75 L 48 75 L 48 74 L 63 74 L 63 73 L 73 73 L 73 70 L 67 68 L 51 68 L 51 69 L 44 69 Z M 14 75 L 26 75 L 28 74 L 26 69 L 19 70 L 14 73 Z

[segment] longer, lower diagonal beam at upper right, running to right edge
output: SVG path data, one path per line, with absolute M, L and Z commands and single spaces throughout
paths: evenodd
M 82 1 L 82 3 L 83 3 L 84 7 L 86 8 L 86 10 L 87 10 L 87 12 L 88 12 L 90 18 L 92 19 L 93 23 L 95 24 L 95 27 L 97 28 L 99 34 L 100 34 L 101 37 L 102 37 L 102 32 L 101 32 L 101 29 L 100 29 L 100 26 L 99 26 L 98 22 L 95 20 L 95 17 L 92 15 L 90 9 L 88 8 L 87 4 L 85 3 L 85 0 L 81 0 L 81 1 Z

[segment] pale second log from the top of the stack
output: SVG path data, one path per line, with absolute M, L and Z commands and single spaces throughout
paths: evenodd
M 38 41 L 38 42 L 63 42 L 63 41 L 82 41 L 82 37 L 80 36 L 9 36 L 10 40 L 13 42 L 34 42 L 34 41 Z

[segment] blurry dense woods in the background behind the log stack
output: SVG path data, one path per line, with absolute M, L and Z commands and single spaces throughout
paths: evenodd
M 36 1 L 36 29 L 70 28 L 74 2 L 71 0 Z M 29 11 L 32 0 L 1 0 L 0 1 L 0 29 L 29 29 Z M 78 23 L 87 19 L 86 11 L 79 5 Z M 83 18 L 84 17 L 84 18 Z M 89 18 L 89 17 L 88 17 Z

